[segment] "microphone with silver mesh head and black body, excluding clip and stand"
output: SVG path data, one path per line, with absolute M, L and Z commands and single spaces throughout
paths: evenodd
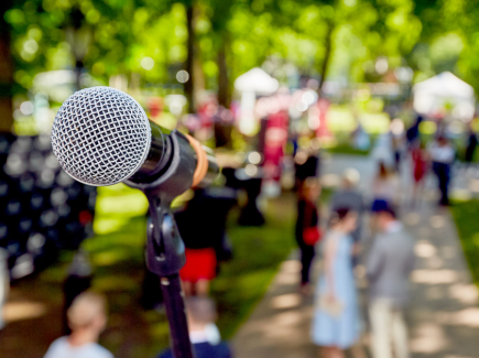
M 126 182 L 144 189 L 172 164 L 173 137 L 189 144 L 181 160 L 196 165 L 183 181 L 188 186 L 209 184 L 219 172 L 209 149 L 151 122 L 137 100 L 110 87 L 86 88 L 64 101 L 53 123 L 52 147 L 62 167 L 78 182 L 94 186 Z

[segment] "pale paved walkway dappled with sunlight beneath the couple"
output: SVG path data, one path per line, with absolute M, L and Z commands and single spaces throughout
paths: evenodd
M 346 167 L 360 172 L 360 188 L 368 193 L 375 171 L 369 158 L 335 156 L 324 165 L 323 183 L 338 183 L 338 175 Z M 477 192 L 476 182 L 464 176 L 455 186 L 461 195 Z M 401 213 L 407 230 L 416 239 L 417 264 L 412 274 L 412 302 L 406 313 L 412 356 L 473 358 L 479 352 L 478 290 L 471 283 L 449 211 L 435 208 L 431 186 L 425 197 L 418 210 L 404 205 Z M 269 292 L 236 336 L 237 358 L 318 357 L 316 347 L 309 343 L 312 300 L 303 300 L 297 294 L 298 270 L 294 258 L 282 264 Z M 316 275 L 318 271 L 317 263 Z M 359 286 L 367 319 L 363 280 L 359 280 Z M 367 347 L 368 334 L 363 340 Z M 367 354 L 370 356 L 369 348 Z

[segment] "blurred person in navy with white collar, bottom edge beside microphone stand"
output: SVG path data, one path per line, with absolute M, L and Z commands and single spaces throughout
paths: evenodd
M 213 300 L 207 297 L 188 297 L 185 301 L 188 318 L 189 340 L 196 358 L 231 358 L 229 346 L 221 341 L 219 330 L 214 324 L 216 310 Z M 174 358 L 171 349 L 157 358 Z

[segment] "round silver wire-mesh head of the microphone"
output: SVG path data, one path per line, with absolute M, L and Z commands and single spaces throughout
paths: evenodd
M 143 108 L 129 95 L 91 87 L 68 97 L 52 129 L 53 152 L 78 182 L 101 186 L 120 183 L 143 164 L 151 129 Z

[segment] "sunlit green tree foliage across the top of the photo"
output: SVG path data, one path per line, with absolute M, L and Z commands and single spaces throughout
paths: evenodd
M 24 89 L 43 70 L 73 68 L 66 32 L 91 32 L 84 63 L 102 83 L 139 74 L 145 83 L 176 84 L 187 57 L 186 8 L 194 7 L 195 55 L 216 89 L 218 53 L 229 78 L 268 58 L 330 78 L 377 82 L 378 56 L 390 68 L 409 65 L 415 80 L 451 70 L 479 88 L 478 1 L 464 0 L 17 0 L 4 20 L 12 35 L 14 79 Z M 330 54 L 329 54 L 330 52 Z M 149 64 L 142 62 L 149 57 Z M 152 62 L 151 62 L 152 61 Z M 151 65 L 152 64 L 152 65 Z M 282 66 L 270 70 L 282 82 Z

